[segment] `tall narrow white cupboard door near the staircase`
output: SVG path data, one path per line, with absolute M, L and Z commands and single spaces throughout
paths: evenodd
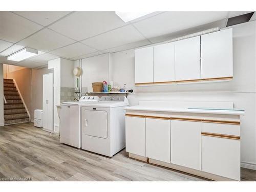
M 53 133 L 53 73 L 42 77 L 43 130 Z

